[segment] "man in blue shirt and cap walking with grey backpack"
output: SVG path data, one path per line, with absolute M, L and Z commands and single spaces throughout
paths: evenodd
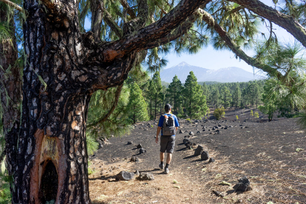
M 175 133 L 177 131 L 177 127 L 180 126 L 178 124 L 177 117 L 171 114 L 171 108 L 172 107 L 170 106 L 170 104 L 165 105 L 166 114 L 161 115 L 159 118 L 155 138 L 155 142 L 158 143 L 158 135 L 160 130 L 162 130 L 162 134 L 160 136 L 159 168 L 164 169 L 164 157 L 165 152 L 167 152 L 166 166 L 164 171 L 166 174 L 169 173 L 169 164 L 171 162 L 175 144 Z

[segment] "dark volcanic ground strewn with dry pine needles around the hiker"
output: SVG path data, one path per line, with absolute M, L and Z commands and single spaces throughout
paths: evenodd
M 261 119 L 255 119 L 249 112 L 250 109 L 230 109 L 219 121 L 179 120 L 169 174 L 158 167 L 159 144 L 154 138 L 158 121 L 137 123 L 132 134 L 110 138 L 108 144 L 89 158 L 91 201 L 97 204 L 306 203 L 305 132 L 295 119 L 264 122 L 264 115 L 260 113 Z M 214 126 L 221 127 L 212 130 Z M 182 133 L 178 133 L 180 130 Z M 191 131 L 194 134 L 189 136 Z M 184 145 L 185 136 L 196 143 L 193 149 Z M 132 144 L 128 145 L 128 141 Z M 139 154 L 136 147 L 139 143 L 146 153 Z M 194 156 L 198 145 L 215 162 Z M 139 161 L 130 161 L 132 156 Z M 136 179 L 128 181 L 115 180 L 121 171 L 136 170 L 150 172 L 155 179 L 141 181 L 135 176 Z M 243 176 L 248 177 L 252 190 L 234 191 L 237 179 Z

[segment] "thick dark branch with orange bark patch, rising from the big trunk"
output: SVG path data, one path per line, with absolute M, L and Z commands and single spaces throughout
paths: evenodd
M 173 29 L 186 21 L 201 5 L 210 1 L 182 0 L 174 9 L 155 23 L 141 28 L 136 33 L 131 33 L 124 39 L 106 43 L 97 52 L 102 55 L 104 62 L 110 62 L 132 51 L 143 50 L 147 47 L 147 43 L 155 42 L 168 35 Z

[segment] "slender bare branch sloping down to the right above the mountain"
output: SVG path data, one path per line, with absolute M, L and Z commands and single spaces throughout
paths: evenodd
M 258 69 L 263 70 L 264 72 L 269 73 L 272 76 L 277 77 L 278 79 L 281 79 L 283 76 L 282 74 L 275 68 L 268 66 L 266 64 L 263 64 L 259 62 L 258 59 L 252 58 L 244 53 L 243 50 L 240 49 L 240 46 L 238 46 L 230 37 L 230 35 L 217 23 L 215 22 L 215 19 L 206 11 L 203 9 L 200 9 L 203 21 L 207 23 L 208 26 L 213 27 L 215 31 L 219 34 L 219 36 L 224 40 L 226 45 L 235 53 L 238 57 L 240 57 L 242 60 L 244 60 L 246 63 L 248 63 L 251 66 L 257 67 Z

